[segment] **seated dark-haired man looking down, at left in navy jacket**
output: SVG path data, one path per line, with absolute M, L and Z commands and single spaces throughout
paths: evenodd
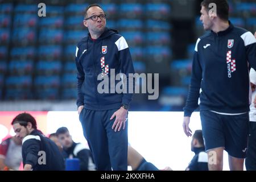
M 18 114 L 11 122 L 16 137 L 22 139 L 22 159 L 24 171 L 61 171 L 64 159 L 52 140 L 37 129 L 31 114 Z

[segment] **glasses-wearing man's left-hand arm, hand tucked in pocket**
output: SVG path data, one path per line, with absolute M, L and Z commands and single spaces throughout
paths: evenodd
M 76 68 L 77 68 L 77 110 L 80 114 L 82 108 L 84 107 L 84 94 L 82 93 L 82 84 L 84 83 L 84 69 L 82 68 L 81 61 L 79 60 L 79 48 L 76 47 Z

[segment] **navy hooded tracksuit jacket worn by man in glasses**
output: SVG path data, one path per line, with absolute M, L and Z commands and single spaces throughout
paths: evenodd
M 134 73 L 129 47 L 117 30 L 105 28 L 104 33 L 96 40 L 92 40 L 89 34 L 82 39 L 77 44 L 76 67 L 77 107 L 84 105 L 85 109 L 108 110 L 117 109 L 121 104 L 130 104 L 133 94 L 128 92 L 97 92 L 97 86 L 101 82 L 97 77 L 102 72 L 110 77 L 110 69 L 115 69 L 115 75 L 123 73 L 127 76 L 127 84 L 131 81 L 129 73 Z M 115 81 L 113 86 L 118 82 Z M 109 92 L 110 89 L 109 85 Z

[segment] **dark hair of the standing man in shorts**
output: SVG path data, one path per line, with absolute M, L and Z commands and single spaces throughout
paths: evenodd
M 204 6 L 209 12 L 212 7 L 209 7 L 210 3 L 216 4 L 217 16 L 222 20 L 229 20 L 229 4 L 226 0 L 204 0 L 201 2 L 201 6 Z

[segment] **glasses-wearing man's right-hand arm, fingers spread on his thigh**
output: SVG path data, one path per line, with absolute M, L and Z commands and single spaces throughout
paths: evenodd
M 118 49 L 118 59 L 121 65 L 121 73 L 126 76 L 126 79 L 123 80 L 123 84 L 126 85 L 127 93 L 123 93 L 122 105 L 126 105 L 127 107 L 129 107 L 135 89 L 135 78 L 133 76 L 129 76 L 129 73 L 135 73 L 133 61 L 131 59 L 129 46 L 123 36 L 115 42 L 115 45 Z M 129 93 L 129 85 L 131 84 L 133 85 L 133 93 Z M 112 120 L 115 117 L 112 129 L 114 129 L 115 131 L 125 129 L 127 113 L 128 110 L 123 107 L 120 107 L 120 109 L 115 111 L 115 113 L 110 118 L 110 120 Z

